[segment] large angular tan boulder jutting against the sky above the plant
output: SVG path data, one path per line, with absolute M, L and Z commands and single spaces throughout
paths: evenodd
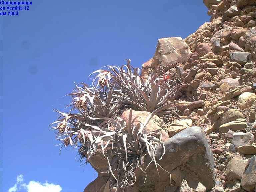
M 152 67 L 161 65 L 164 68 L 176 67 L 176 62 L 185 63 L 191 51 L 181 37 L 158 39 L 155 55 L 152 60 Z

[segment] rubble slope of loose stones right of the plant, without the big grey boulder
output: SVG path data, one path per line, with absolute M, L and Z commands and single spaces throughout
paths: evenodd
M 163 67 L 190 83 L 180 94 L 173 136 L 199 126 L 215 162 L 216 192 L 253 192 L 256 186 L 256 1 L 203 0 L 210 22 L 185 39 L 158 40 L 142 74 Z M 186 186 L 185 183 L 183 183 Z

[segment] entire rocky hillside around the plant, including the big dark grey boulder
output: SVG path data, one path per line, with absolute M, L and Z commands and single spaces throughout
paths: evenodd
M 134 186 L 125 191 L 256 192 L 256 0 L 203 3 L 210 22 L 185 39 L 159 39 L 154 56 L 142 65 L 144 82 L 159 69 L 163 80 L 179 79 L 189 86 L 175 98 L 182 104 L 171 123 L 155 116 L 146 127 L 162 130 L 166 152 L 156 159 L 166 171 L 159 168 L 159 178 L 149 166 L 145 180 L 136 170 Z M 122 119 L 131 119 L 129 114 L 120 112 Z M 133 114 L 146 119 L 150 113 Z M 156 148 L 156 154 L 161 151 Z M 142 167 L 149 160 L 145 156 Z M 96 153 L 89 162 L 98 178 L 84 192 L 115 191 L 103 173 L 108 166 L 104 156 Z

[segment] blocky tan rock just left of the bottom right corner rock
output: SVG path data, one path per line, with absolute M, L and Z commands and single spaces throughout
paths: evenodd
M 245 160 L 234 157 L 227 165 L 227 178 L 230 181 L 233 181 L 234 179 L 241 180 L 246 164 L 247 162 Z

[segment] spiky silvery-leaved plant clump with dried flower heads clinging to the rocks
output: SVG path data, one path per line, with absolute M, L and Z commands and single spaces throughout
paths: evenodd
M 155 69 L 147 80 L 140 76 L 139 68 L 130 65 L 106 66 L 93 72 L 92 86 L 85 83 L 76 85 L 71 92 L 70 113 L 59 113 L 52 123 L 61 148 L 78 148 L 80 160 L 90 158 L 101 150 L 108 162 L 110 188 L 124 191 L 127 185 L 136 181 L 135 171 L 141 167 L 145 155 L 156 162 L 156 147 L 163 146 L 161 130 L 146 131 L 150 119 L 157 115 L 164 121 L 173 116 L 174 108 L 182 104 L 175 99 L 176 93 L 187 84 L 181 83 L 175 75 Z M 170 102 L 173 101 L 173 102 Z M 120 117 L 120 111 L 130 109 L 129 120 Z M 133 122 L 132 109 L 151 112 L 145 122 Z M 105 156 L 105 149 L 111 147 L 111 156 Z M 161 156 L 161 158 L 162 158 Z M 146 176 L 145 176 L 146 178 Z

